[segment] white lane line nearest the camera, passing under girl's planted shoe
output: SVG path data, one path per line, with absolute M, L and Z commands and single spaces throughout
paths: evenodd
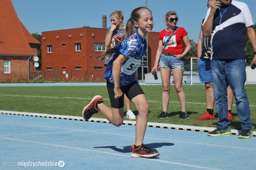
M 55 146 L 55 147 L 62 147 L 62 148 L 69 148 L 69 149 L 78 149 L 78 150 L 89 151 L 89 152 L 98 152 L 98 153 L 105 153 L 105 154 L 110 154 L 110 155 L 131 157 L 130 155 L 123 155 L 123 154 L 117 154 L 117 153 L 111 153 L 111 152 L 102 152 L 102 151 L 83 149 L 83 148 L 75 148 L 75 147 L 56 145 L 56 144 L 50 144 L 50 143 L 42 143 L 42 142 L 35 142 L 35 141 L 28 141 L 28 140 L 21 140 L 21 139 L 13 139 L 13 138 L 6 138 L 6 137 L 0 137 L 0 138 L 9 139 L 9 140 L 16 140 L 16 141 L 21 141 L 21 142 L 30 142 L 30 143 L 36 143 L 36 144 L 44 144 L 44 145 Z M 209 168 L 209 167 L 196 166 L 196 165 L 190 165 L 190 164 L 182 164 L 182 163 L 170 162 L 170 161 L 162 161 L 162 160 L 157 160 L 157 159 L 147 159 L 147 160 L 163 162 L 163 163 L 169 163 L 169 164 L 175 164 L 175 165 L 189 166 L 189 167 L 195 167 L 195 168 L 202 168 L 202 169 L 221 170 L 221 169 L 216 169 L 216 168 Z

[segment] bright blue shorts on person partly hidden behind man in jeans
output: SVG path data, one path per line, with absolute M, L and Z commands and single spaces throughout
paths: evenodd
M 201 82 L 212 82 L 211 78 L 211 60 L 201 59 L 197 60 L 199 80 Z

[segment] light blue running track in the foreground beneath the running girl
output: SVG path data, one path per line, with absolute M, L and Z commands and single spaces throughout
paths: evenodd
M 160 155 L 132 158 L 134 125 L 115 127 L 80 119 L 1 113 L 0 169 L 24 169 L 17 165 L 27 162 L 41 164 L 34 169 L 60 168 L 64 163 L 62 169 L 255 169 L 256 137 L 211 137 L 206 132 L 147 127 L 144 144 Z

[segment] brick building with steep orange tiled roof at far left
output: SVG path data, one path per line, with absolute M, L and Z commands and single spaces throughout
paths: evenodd
M 0 80 L 31 79 L 40 42 L 20 22 L 11 0 L 1 0 L 0 11 Z

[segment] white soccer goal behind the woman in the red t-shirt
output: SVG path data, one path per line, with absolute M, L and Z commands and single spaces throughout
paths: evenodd
M 193 85 L 193 83 L 201 83 L 199 80 L 199 74 L 198 74 L 198 66 L 197 66 L 197 58 L 191 57 L 190 58 L 190 70 L 189 70 L 189 76 L 190 76 L 190 85 Z

